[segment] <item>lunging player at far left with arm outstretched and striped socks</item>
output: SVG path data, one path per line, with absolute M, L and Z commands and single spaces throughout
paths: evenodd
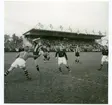
M 7 76 L 12 70 L 14 70 L 15 68 L 19 67 L 21 69 L 23 69 L 25 76 L 28 80 L 31 80 L 31 77 L 29 77 L 28 74 L 28 70 L 26 69 L 26 61 L 28 58 L 34 58 L 34 57 L 38 57 L 36 55 L 30 54 L 29 53 L 29 47 L 25 46 L 24 47 L 24 51 L 21 51 L 17 56 L 16 56 L 16 60 L 12 63 L 12 65 L 10 66 L 10 68 L 5 72 L 5 76 Z

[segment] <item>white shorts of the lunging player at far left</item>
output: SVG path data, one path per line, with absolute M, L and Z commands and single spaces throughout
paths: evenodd
M 26 61 L 22 58 L 17 58 L 11 65 L 12 67 L 20 67 L 20 68 L 24 68 L 26 67 Z

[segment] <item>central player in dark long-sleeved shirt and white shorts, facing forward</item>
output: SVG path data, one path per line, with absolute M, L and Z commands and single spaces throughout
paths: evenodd
M 63 50 L 62 47 L 60 47 L 60 49 L 56 52 L 55 57 L 56 58 L 58 57 L 58 68 L 59 68 L 60 72 L 62 72 L 62 70 L 61 70 L 61 64 L 64 64 L 66 66 L 66 68 L 68 69 L 69 72 L 71 71 L 70 68 L 69 68 L 69 66 L 68 66 L 68 63 L 67 63 L 67 60 L 68 60 L 67 54 Z

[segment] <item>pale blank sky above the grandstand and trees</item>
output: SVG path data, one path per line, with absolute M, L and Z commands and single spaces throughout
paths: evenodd
M 38 0 L 38 1 L 5 1 L 4 2 L 4 33 L 21 36 L 34 28 L 39 22 L 44 29 L 69 31 L 79 30 L 85 33 L 108 34 L 108 2 L 107 1 L 73 1 L 73 0 Z

